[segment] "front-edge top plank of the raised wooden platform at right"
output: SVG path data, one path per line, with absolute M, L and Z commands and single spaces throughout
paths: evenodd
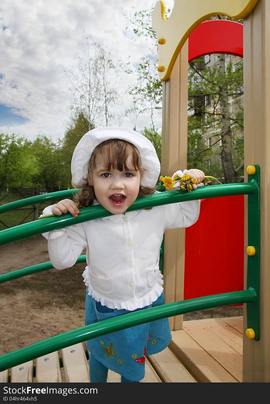
M 191 320 L 185 322 L 183 330 L 235 379 L 240 382 L 243 380 L 242 355 L 215 335 L 213 329 L 207 328 L 201 320 Z

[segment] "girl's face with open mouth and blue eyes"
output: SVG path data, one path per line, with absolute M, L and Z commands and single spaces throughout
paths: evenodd
M 124 213 L 139 194 L 141 173 L 135 170 L 131 156 L 127 159 L 129 171 L 105 170 L 101 154 L 96 156 L 95 168 L 89 176 L 98 202 L 110 213 Z

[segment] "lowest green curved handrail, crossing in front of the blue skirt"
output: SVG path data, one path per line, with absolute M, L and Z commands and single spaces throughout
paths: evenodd
M 59 349 L 71 345 L 100 337 L 124 328 L 144 324 L 162 318 L 177 316 L 191 311 L 210 309 L 238 303 L 252 303 L 256 301 L 257 295 L 253 288 L 239 290 L 237 292 L 210 295 L 195 299 L 188 299 L 175 303 L 168 303 L 159 307 L 151 307 L 140 311 L 124 314 L 123 316 L 103 320 L 102 322 L 91 324 L 64 332 L 63 334 L 44 339 L 0 356 L 0 372 L 13 366 L 17 366 L 39 356 L 47 355 Z

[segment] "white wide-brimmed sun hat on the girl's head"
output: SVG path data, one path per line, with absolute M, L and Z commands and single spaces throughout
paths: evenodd
M 139 151 L 141 165 L 146 171 L 141 173 L 141 185 L 154 188 L 160 175 L 160 162 L 150 140 L 135 130 L 105 126 L 85 133 L 73 151 L 71 159 L 72 181 L 75 185 L 85 185 L 88 163 L 94 148 L 108 139 L 122 139 L 132 143 Z

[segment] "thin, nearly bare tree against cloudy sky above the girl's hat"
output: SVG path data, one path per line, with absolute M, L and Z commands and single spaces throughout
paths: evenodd
M 76 68 L 66 74 L 73 92 L 73 120 L 83 118 L 86 133 L 94 126 L 108 126 L 114 118 L 117 86 L 111 55 L 101 44 L 88 36 L 82 55 L 77 56 Z

